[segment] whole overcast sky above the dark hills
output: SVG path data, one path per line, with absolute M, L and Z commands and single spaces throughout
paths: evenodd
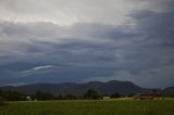
M 0 86 L 174 86 L 173 0 L 0 0 Z

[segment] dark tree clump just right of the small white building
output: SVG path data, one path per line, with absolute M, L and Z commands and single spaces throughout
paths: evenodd
M 53 100 L 54 97 L 49 92 L 37 91 L 35 93 L 35 99 L 37 99 L 37 100 Z

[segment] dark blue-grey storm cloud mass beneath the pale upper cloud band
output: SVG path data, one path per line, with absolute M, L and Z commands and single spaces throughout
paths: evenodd
M 134 27 L 1 21 L 0 85 L 120 79 L 173 86 L 172 3 L 132 12 Z

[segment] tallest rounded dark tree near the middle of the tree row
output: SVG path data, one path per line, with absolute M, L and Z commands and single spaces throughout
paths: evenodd
M 89 89 L 84 94 L 84 99 L 97 100 L 97 99 L 100 99 L 100 95 L 98 94 L 96 90 Z

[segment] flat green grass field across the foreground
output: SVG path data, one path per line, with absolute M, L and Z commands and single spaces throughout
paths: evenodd
M 0 115 L 174 115 L 174 100 L 11 102 Z

